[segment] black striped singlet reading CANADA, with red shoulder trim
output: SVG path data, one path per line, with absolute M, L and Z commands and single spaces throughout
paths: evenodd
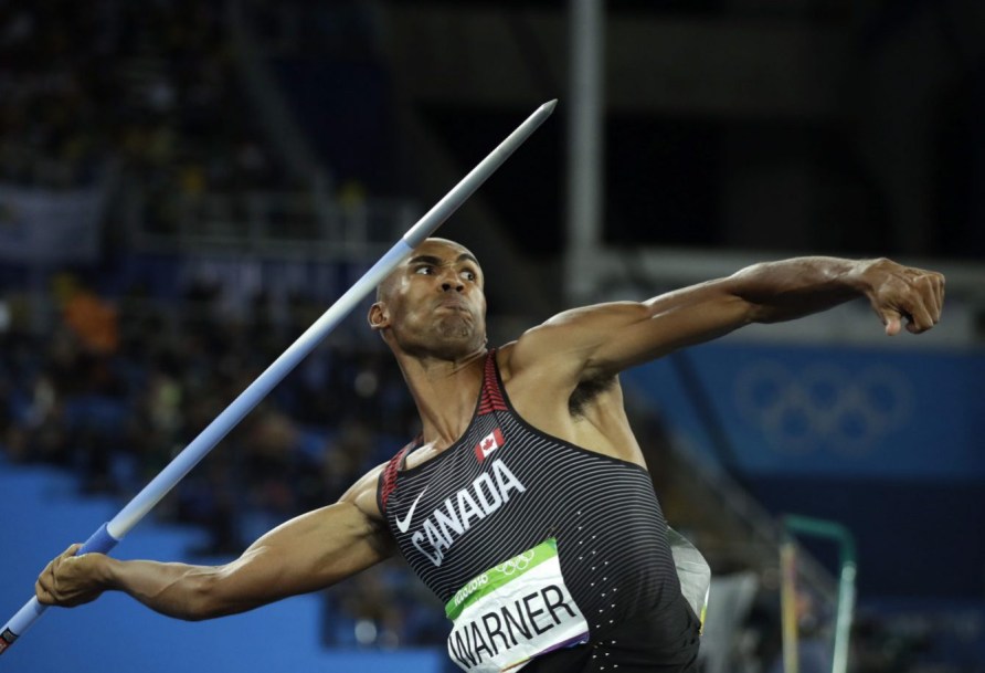
M 539 656 L 525 671 L 689 670 L 699 627 L 681 597 L 645 470 L 525 422 L 506 396 L 495 351 L 465 434 L 406 469 L 416 448 L 390 461 L 378 500 L 401 554 L 443 602 L 486 569 L 557 540 L 590 640 Z

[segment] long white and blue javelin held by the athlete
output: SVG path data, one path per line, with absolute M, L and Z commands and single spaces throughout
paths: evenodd
M 229 434 L 236 423 L 256 407 L 274 387 L 279 383 L 338 324 L 379 285 L 411 252 L 430 236 L 442 223 L 462 206 L 478 187 L 509 158 L 522 143 L 537 130 L 552 112 L 558 101 L 550 101 L 538 107 L 533 114 L 506 137 L 467 176 L 452 188 L 441 201 L 434 204 L 423 218 L 398 241 L 361 278 L 326 311 L 280 357 L 267 367 L 256 380 L 250 383 L 222 413 L 215 417 L 199 435 L 184 448 L 140 493 L 110 520 L 103 524 L 78 549 L 77 554 L 89 551 L 108 553 L 130 529 L 136 526 L 165 495 L 191 472 L 199 461 Z M 0 631 L 0 653 L 44 613 L 47 607 L 32 597 Z

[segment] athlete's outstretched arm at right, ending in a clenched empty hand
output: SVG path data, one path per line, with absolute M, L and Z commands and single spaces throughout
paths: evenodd
M 797 257 L 646 302 L 562 313 L 523 335 L 515 357 L 564 358 L 579 380 L 605 377 L 750 323 L 776 323 L 866 297 L 888 335 L 918 334 L 941 317 L 944 276 L 886 259 Z M 530 360 L 528 360 L 530 361 Z

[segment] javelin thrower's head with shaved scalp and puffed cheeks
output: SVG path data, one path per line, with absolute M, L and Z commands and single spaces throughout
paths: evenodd
M 483 284 L 466 248 L 427 239 L 380 285 L 370 326 L 412 355 L 469 355 L 486 343 Z

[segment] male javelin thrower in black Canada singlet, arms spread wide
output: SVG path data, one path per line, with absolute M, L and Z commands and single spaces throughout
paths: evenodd
M 682 596 L 618 372 L 856 297 L 888 335 L 904 322 L 922 333 L 944 298 L 938 273 L 802 257 L 569 311 L 489 349 L 484 282 L 468 250 L 428 239 L 380 285 L 369 323 L 422 432 L 338 503 L 224 566 L 76 557 L 73 545 L 39 577 L 39 600 L 118 590 L 200 620 L 322 589 L 399 551 L 446 603 L 448 654 L 466 671 L 692 671 L 698 608 Z

